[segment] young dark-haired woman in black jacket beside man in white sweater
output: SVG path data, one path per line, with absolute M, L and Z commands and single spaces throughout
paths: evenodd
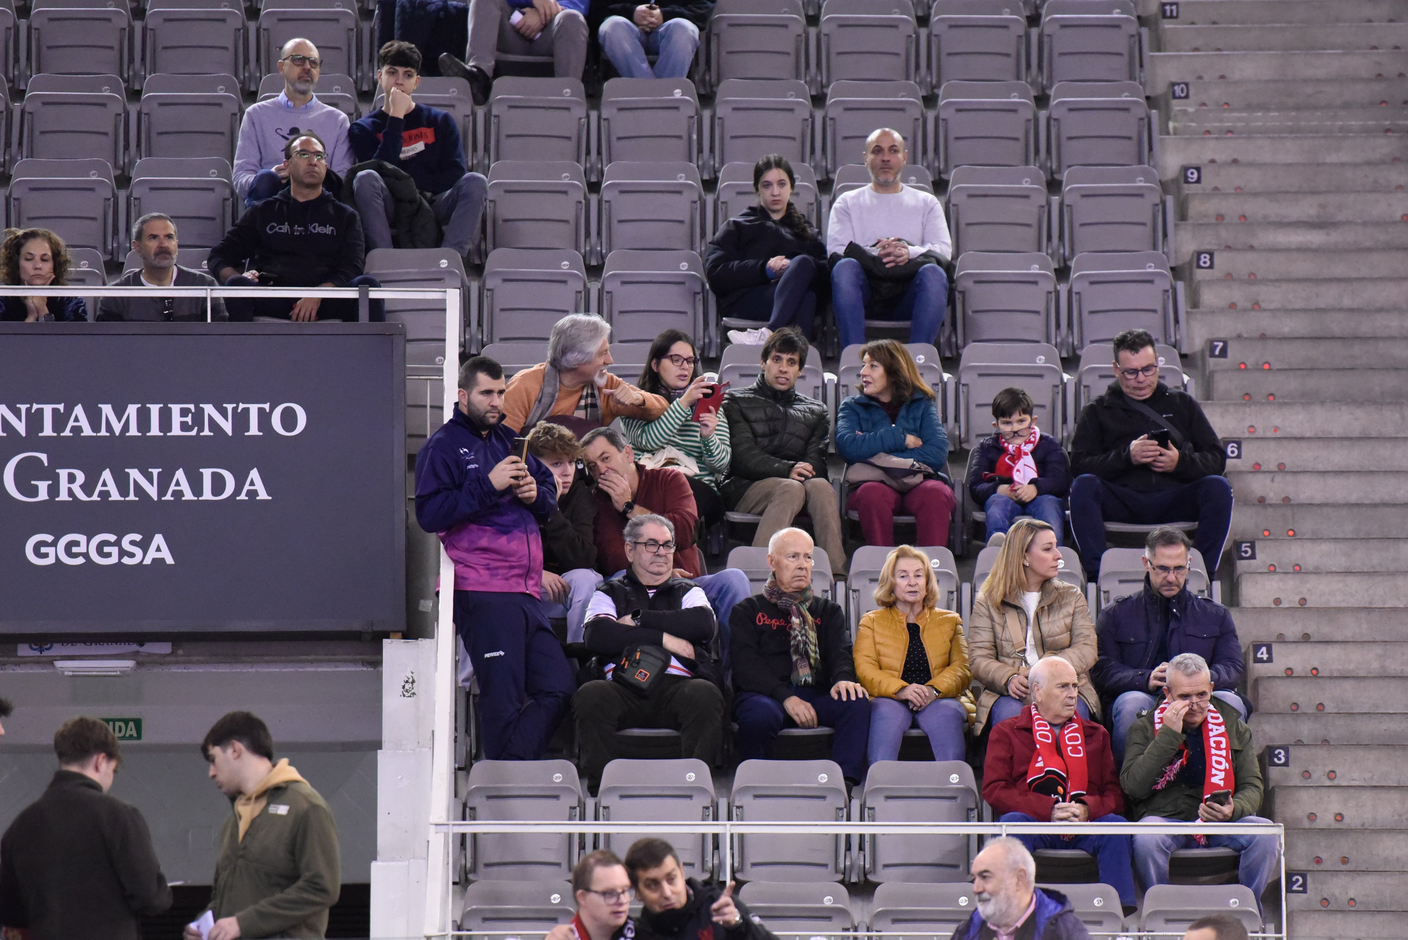
M 721 317 L 766 321 L 759 329 L 731 329 L 729 341 L 762 346 L 783 326 L 811 335 L 822 291 L 831 283 L 826 246 L 791 203 L 791 163 L 769 153 L 753 166 L 758 205 L 728 220 L 704 256 L 708 286 Z

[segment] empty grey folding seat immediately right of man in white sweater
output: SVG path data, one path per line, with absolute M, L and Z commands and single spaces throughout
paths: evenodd
M 1041 252 L 964 252 L 953 274 L 959 346 L 970 342 L 1056 345 L 1056 269 Z

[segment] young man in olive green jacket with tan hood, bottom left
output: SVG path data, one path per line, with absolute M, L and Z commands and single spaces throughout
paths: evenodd
M 232 804 L 220 834 L 208 940 L 322 937 L 342 884 L 332 811 L 284 757 L 269 726 L 230 712 L 200 746 L 210 778 Z M 186 927 L 184 940 L 201 940 Z

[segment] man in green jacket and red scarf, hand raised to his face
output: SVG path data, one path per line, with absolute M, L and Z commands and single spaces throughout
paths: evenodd
M 1131 819 L 1149 823 L 1270 823 L 1262 808 L 1262 768 L 1252 729 L 1236 709 L 1212 698 L 1212 674 L 1197 653 L 1169 661 L 1164 699 L 1129 729 L 1119 784 Z M 1169 882 L 1176 849 L 1209 846 L 1242 854 L 1238 881 L 1257 903 L 1280 864 L 1276 836 L 1135 836 L 1135 871 L 1145 888 Z

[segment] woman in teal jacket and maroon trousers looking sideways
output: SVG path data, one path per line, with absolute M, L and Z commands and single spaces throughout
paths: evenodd
M 924 384 L 910 350 L 894 339 L 862 346 L 860 363 L 860 394 L 842 401 L 836 415 L 836 453 L 850 464 L 849 502 L 860 516 L 866 545 L 894 545 L 894 514 L 901 505 L 915 518 L 919 545 L 948 545 L 955 498 L 948 480 L 949 436 L 934 390 Z

